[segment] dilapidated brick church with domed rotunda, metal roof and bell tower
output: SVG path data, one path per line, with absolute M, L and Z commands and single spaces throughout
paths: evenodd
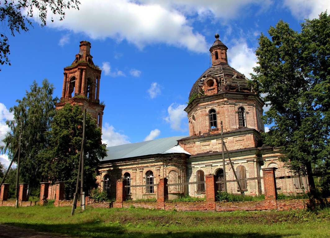
M 110 197 L 116 197 L 116 181 L 126 180 L 129 199 L 157 195 L 160 178 L 167 178 L 169 199 L 188 194 L 205 196 L 205 176 L 215 174 L 219 191 L 260 195 L 261 169 L 277 167 L 278 193 L 301 193 L 305 177 L 294 175 L 278 157 L 278 148 L 263 145 L 264 102 L 248 85 L 248 78 L 228 65 L 228 48 L 215 35 L 210 48 L 212 67 L 195 82 L 187 112 L 189 136 L 174 136 L 107 147 L 108 156 L 100 161 L 97 183 Z M 99 101 L 101 70 L 90 55 L 91 45 L 82 41 L 71 66 L 64 68 L 61 102 L 86 108 L 102 127 L 104 105 Z M 245 179 L 235 181 L 235 179 Z M 233 181 L 234 180 L 234 181 Z M 146 186 L 150 185 L 150 186 Z

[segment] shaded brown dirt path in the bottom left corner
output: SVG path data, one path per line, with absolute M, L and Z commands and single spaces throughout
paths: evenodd
M 53 233 L 39 232 L 33 229 L 19 228 L 0 224 L 0 238 L 70 238 Z

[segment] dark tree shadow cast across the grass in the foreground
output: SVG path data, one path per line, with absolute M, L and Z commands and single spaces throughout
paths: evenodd
M 95 222 L 84 222 L 79 224 L 26 224 L 26 223 L 3 223 L 6 225 L 34 229 L 41 232 L 57 233 L 60 235 L 68 235 L 74 237 L 83 238 L 198 238 L 198 237 L 219 237 L 219 238 L 282 238 L 287 235 L 299 235 L 298 233 L 291 234 L 261 234 L 259 232 L 245 232 L 245 233 L 233 233 L 233 232 L 194 232 L 194 231 L 128 231 L 124 225 L 118 223 L 112 223 L 110 225 L 100 223 L 98 220 Z M 189 229 L 189 228 L 187 228 Z M 141 228 L 140 228 L 141 230 Z

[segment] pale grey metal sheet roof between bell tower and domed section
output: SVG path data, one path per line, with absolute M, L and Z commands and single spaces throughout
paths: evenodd
M 178 145 L 178 140 L 187 137 L 173 136 L 143 142 L 107 147 L 108 156 L 103 161 L 128 159 L 147 155 L 184 153 L 190 155 Z M 102 163 L 102 161 L 101 161 Z

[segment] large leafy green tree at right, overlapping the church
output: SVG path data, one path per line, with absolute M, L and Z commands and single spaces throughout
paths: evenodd
M 261 34 L 256 50 L 259 66 L 254 86 L 270 105 L 263 119 L 273 124 L 263 134 L 266 144 L 281 146 L 281 160 L 308 175 L 315 196 L 313 168 L 329 169 L 329 39 L 327 13 L 306 20 L 298 33 L 279 21 L 270 27 L 271 39 Z

